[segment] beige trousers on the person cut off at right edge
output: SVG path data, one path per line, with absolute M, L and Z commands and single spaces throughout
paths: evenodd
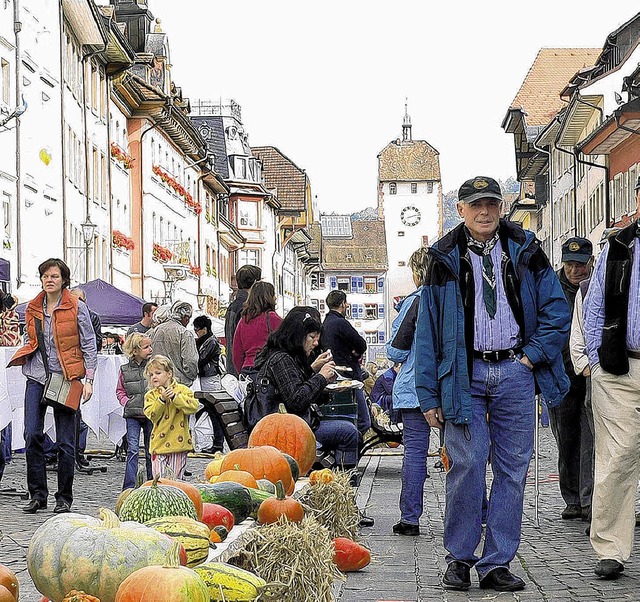
M 595 477 L 591 545 L 598 559 L 624 563 L 633 548 L 635 493 L 640 475 L 640 360 L 629 373 L 591 372 Z

